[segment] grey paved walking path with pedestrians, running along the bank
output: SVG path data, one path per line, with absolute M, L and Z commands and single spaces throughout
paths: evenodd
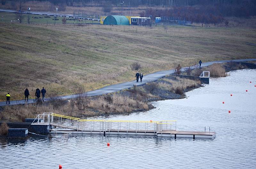
M 234 62 L 256 61 L 256 58 L 255 59 L 237 59 L 237 60 L 232 60 L 232 61 L 234 61 Z M 224 62 L 231 62 L 231 60 L 205 62 L 205 63 L 202 63 L 201 67 L 209 66 L 209 65 L 212 65 L 213 63 L 224 63 Z M 184 71 L 186 68 L 187 67 L 182 68 L 182 71 Z M 97 90 L 87 92 L 87 95 L 88 96 L 97 96 L 97 95 L 107 94 L 107 93 L 111 93 L 111 92 L 118 92 L 118 91 L 121 91 L 123 89 L 131 88 L 131 87 L 133 87 L 133 85 L 137 85 L 137 86 L 145 85 L 148 82 L 156 81 L 159 78 L 162 78 L 166 75 L 170 75 L 170 74 L 173 74 L 173 73 L 174 73 L 173 69 L 151 73 L 151 74 L 143 76 L 143 80 L 142 80 L 143 82 L 142 83 L 140 83 L 140 82 L 137 83 L 136 82 L 136 77 L 134 75 L 134 79 L 135 79 L 134 81 L 124 82 L 124 83 L 120 83 L 120 84 L 116 84 L 116 85 L 109 85 L 109 86 L 103 87 L 101 89 L 97 89 Z M 10 92 L 10 94 L 11 94 L 11 99 L 12 99 L 12 92 Z M 71 99 L 71 98 L 75 98 L 75 97 L 76 97 L 76 94 L 62 96 L 63 99 Z M 46 98 L 44 100 L 47 101 L 48 99 Z M 34 103 L 34 101 L 33 101 L 33 99 L 28 99 L 27 103 Z M 10 102 L 10 105 L 18 105 L 18 104 L 25 104 L 25 101 L 24 100 L 14 100 L 14 101 Z M 0 106 L 6 106 L 6 102 L 5 101 L 0 102 Z

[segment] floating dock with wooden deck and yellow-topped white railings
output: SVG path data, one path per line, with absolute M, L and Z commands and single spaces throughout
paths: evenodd
M 42 119 L 42 120 L 40 120 Z M 176 120 L 163 121 L 127 121 L 127 120 L 92 120 L 80 119 L 54 113 L 38 114 L 31 125 L 47 125 L 48 133 L 88 134 L 88 135 L 122 135 L 122 136 L 157 136 L 210 138 L 215 132 L 177 131 Z

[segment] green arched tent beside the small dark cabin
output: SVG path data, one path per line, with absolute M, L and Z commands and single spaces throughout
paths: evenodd
M 103 25 L 130 25 L 130 23 L 125 16 L 109 15 L 104 19 Z

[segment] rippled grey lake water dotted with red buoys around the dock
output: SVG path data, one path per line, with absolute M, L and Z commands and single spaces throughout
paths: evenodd
M 187 92 L 186 99 L 157 101 L 153 102 L 156 108 L 148 112 L 108 117 L 177 120 L 177 130 L 204 131 L 204 126 L 208 130 L 210 126 L 217 133 L 213 140 L 80 135 L 0 139 L 0 168 L 58 168 L 61 164 L 68 169 L 255 169 L 254 85 L 256 70 L 232 71 L 228 77 L 211 78 L 209 85 Z

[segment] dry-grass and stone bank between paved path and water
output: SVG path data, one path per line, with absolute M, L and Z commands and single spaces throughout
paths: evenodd
M 219 65 L 226 71 L 256 68 L 256 65 L 247 62 L 220 63 Z M 195 76 L 195 74 L 209 67 L 194 69 L 190 76 L 187 76 L 185 72 L 182 72 L 180 76 L 168 75 L 145 85 L 135 85 L 130 89 L 106 95 L 90 97 L 81 95 L 80 99 L 53 99 L 40 104 L 0 107 L 0 121 L 22 122 L 25 118 L 34 118 L 40 112 L 54 112 L 79 118 L 145 112 L 155 108 L 150 104 L 152 101 L 184 99 L 186 92 L 202 87 L 199 75 Z M 180 87 L 183 88 L 177 90 Z

